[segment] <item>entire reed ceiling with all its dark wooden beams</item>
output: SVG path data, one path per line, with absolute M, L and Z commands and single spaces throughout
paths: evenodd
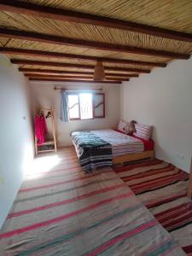
M 0 51 L 30 80 L 121 83 L 192 54 L 191 0 L 0 0 Z

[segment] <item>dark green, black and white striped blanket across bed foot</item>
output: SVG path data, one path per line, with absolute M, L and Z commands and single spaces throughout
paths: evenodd
M 101 137 L 91 131 L 76 131 L 72 133 L 72 140 L 84 172 L 98 167 L 112 166 L 111 144 Z

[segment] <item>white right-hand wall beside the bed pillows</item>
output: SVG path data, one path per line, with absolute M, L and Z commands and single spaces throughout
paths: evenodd
M 154 125 L 157 158 L 189 172 L 192 155 L 192 58 L 121 85 L 121 116 Z

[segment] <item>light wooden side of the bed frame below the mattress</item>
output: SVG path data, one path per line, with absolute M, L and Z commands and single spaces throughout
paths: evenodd
M 150 159 L 154 158 L 154 150 L 143 151 L 135 154 L 120 155 L 118 157 L 113 158 L 113 165 L 136 161 L 136 160 L 143 160 L 148 158 Z

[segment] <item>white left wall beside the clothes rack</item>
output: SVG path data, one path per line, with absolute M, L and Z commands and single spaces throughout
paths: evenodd
M 0 55 L 0 228 L 33 159 L 26 79 Z

